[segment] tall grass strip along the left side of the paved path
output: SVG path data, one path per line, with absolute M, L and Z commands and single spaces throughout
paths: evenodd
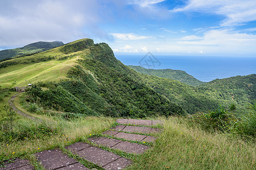
M 46 117 L 36 123 L 21 120 L 9 133 L 1 131 L 0 161 L 70 145 L 86 139 L 89 134 L 105 131 L 114 122 L 113 118 L 105 117 L 81 117 L 70 121 L 55 117 L 56 122 L 49 120 L 52 118 Z

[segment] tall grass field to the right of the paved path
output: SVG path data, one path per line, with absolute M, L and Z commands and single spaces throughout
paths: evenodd
M 145 154 L 128 169 L 255 169 L 255 141 L 207 133 L 171 117 Z

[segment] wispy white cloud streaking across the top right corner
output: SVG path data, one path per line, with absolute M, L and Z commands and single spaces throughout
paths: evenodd
M 255 0 L 189 0 L 184 7 L 177 7 L 171 12 L 198 11 L 226 16 L 222 27 L 242 25 L 256 20 Z

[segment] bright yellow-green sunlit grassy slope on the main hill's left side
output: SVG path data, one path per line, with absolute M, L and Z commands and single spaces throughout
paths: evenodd
M 72 58 L 58 60 L 61 57 L 68 56 L 60 53 L 60 48 L 48 50 L 47 52 L 34 54 L 21 58 L 10 59 L 4 62 L 18 62 L 16 65 L 10 65 L 0 69 L 0 84 L 5 87 L 22 87 L 27 86 L 28 83 L 35 83 L 39 81 L 56 81 L 67 79 L 67 73 L 71 67 L 77 65 L 77 59 L 80 59 L 80 53 L 75 52 L 69 54 Z M 86 52 L 84 52 L 86 54 Z M 26 62 L 34 58 L 54 57 L 45 62 Z M 3 63 L 4 63 L 3 62 Z M 16 81 L 16 82 L 15 82 Z

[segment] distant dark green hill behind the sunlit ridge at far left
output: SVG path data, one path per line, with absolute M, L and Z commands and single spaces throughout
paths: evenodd
M 39 42 L 34 42 L 32 44 L 25 45 L 22 48 L 1 50 L 0 61 L 2 59 L 44 52 L 46 50 L 49 50 L 61 45 L 64 45 L 64 43 L 61 41 L 53 41 L 53 42 L 39 41 Z

